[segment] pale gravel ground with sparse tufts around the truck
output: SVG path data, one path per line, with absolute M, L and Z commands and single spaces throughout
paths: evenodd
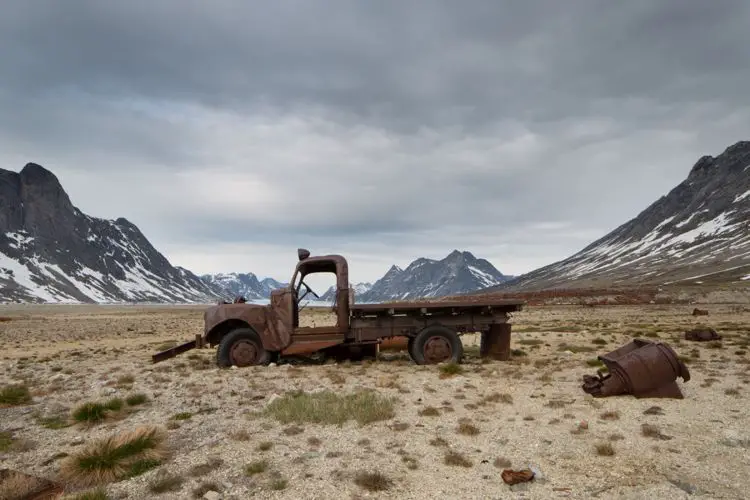
M 153 365 L 150 355 L 165 342 L 201 331 L 202 309 L 0 306 L 0 386 L 24 382 L 33 395 L 31 404 L 0 408 L 0 431 L 15 440 L 0 451 L 0 468 L 54 479 L 59 454 L 149 424 L 168 428 L 170 458 L 109 484 L 109 497 L 192 498 L 210 484 L 216 498 L 746 498 L 750 310 L 701 307 L 710 315 L 692 317 L 692 306 L 530 307 L 513 318 L 513 348 L 523 352 L 480 360 L 478 339 L 467 335 L 463 373 L 446 377 L 398 352 L 377 362 L 219 370 L 215 351 L 203 349 Z M 325 321 L 303 314 L 307 324 Z M 724 340 L 680 341 L 694 325 L 712 326 Z M 692 379 L 678 379 L 685 399 L 593 399 L 581 390 L 582 376 L 596 371 L 587 360 L 635 335 L 664 340 L 688 359 Z M 395 416 L 295 426 L 255 415 L 286 391 L 326 388 L 374 389 L 395 398 Z M 39 420 L 134 393 L 150 401 L 92 428 L 48 429 Z M 654 406 L 660 411 L 647 412 Z M 420 415 L 427 407 L 438 414 Z M 190 418 L 173 418 L 185 412 Z M 478 432 L 458 433 L 461 422 Z M 660 435 L 643 435 L 642 424 Z M 263 442 L 271 448 L 259 450 Z M 598 454 L 604 443 L 614 454 Z M 468 466 L 445 464 L 449 451 Z M 247 476 L 257 460 L 267 470 Z M 509 487 L 503 461 L 540 475 Z M 152 493 L 165 471 L 182 478 L 179 489 Z M 360 472 L 383 474 L 389 488 L 368 491 L 355 481 Z

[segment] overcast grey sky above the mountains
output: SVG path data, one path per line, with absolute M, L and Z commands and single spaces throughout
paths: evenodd
M 175 265 L 520 274 L 750 139 L 744 0 L 6 2 L 0 167 Z

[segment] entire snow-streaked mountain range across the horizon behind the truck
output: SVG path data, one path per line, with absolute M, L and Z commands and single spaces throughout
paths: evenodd
M 367 303 L 702 282 L 750 284 L 748 141 L 700 158 L 667 195 L 567 259 L 514 277 L 454 250 L 405 269 L 394 265 L 374 283 L 354 285 L 354 297 Z M 128 220 L 82 213 L 42 166 L 0 169 L 0 302 L 264 301 L 283 286 L 249 272 L 199 277 L 171 265 Z M 332 302 L 333 290 L 321 299 Z

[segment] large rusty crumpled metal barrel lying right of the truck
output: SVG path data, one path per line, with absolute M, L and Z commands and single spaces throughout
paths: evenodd
M 667 344 L 634 339 L 612 352 L 598 356 L 608 373 L 584 375 L 582 388 L 594 397 L 631 394 L 636 398 L 675 398 L 683 395 L 677 377 L 690 380 L 687 366 Z

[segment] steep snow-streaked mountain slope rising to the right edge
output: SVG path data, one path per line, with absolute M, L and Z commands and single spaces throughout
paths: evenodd
M 750 141 L 703 156 L 637 217 L 565 260 L 483 292 L 750 284 Z

